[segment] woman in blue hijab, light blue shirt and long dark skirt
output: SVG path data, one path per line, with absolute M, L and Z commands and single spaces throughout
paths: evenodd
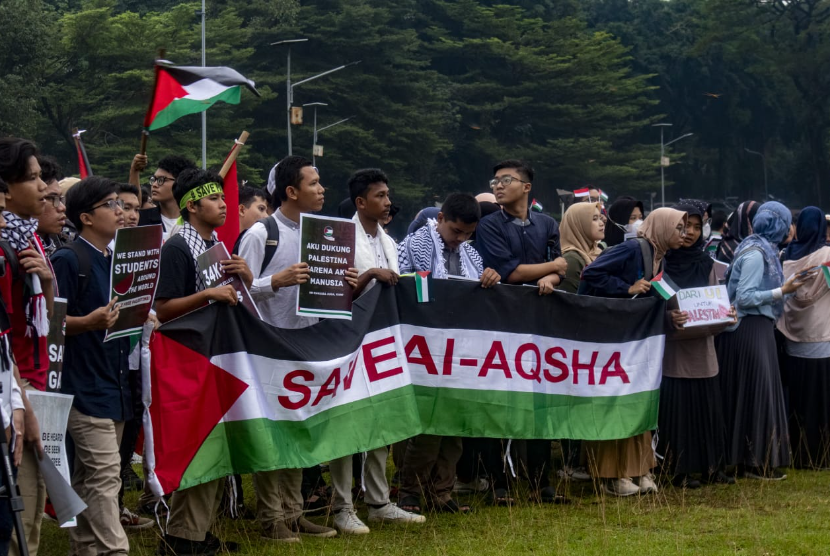
M 776 468 L 790 464 L 784 393 L 773 324 L 784 311 L 784 295 L 794 293 L 815 273 L 784 281 L 778 244 L 789 234 L 792 215 L 770 201 L 752 220 L 727 272 L 729 299 L 738 323 L 718 338 L 716 351 L 726 420 L 727 463 L 745 477 L 781 480 Z

